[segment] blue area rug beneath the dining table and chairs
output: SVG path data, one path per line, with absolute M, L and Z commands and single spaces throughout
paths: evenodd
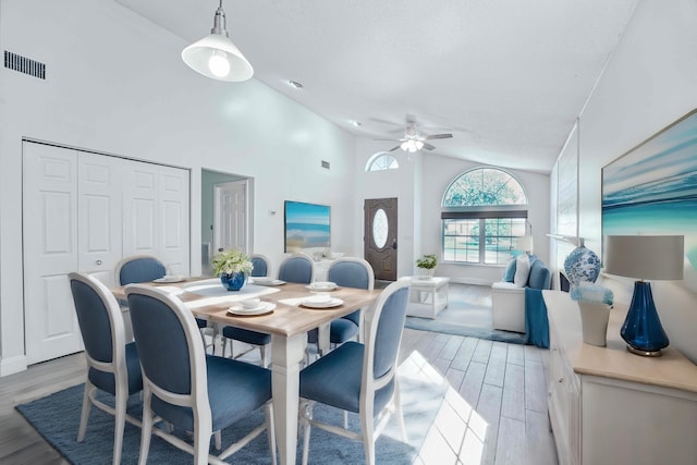
M 407 360 L 408 363 L 408 360 Z M 433 382 L 413 376 L 412 364 L 408 376 L 400 376 L 402 408 L 407 430 L 408 443 L 399 438 L 399 427 L 394 416 L 376 443 L 378 464 L 411 464 L 416 458 L 424 443 L 426 433 L 443 402 L 447 383 Z M 404 369 L 401 367 L 400 371 Z M 82 405 L 84 384 L 78 384 L 46 397 L 17 405 L 17 411 L 29 424 L 73 464 L 110 464 L 113 451 L 113 417 L 93 407 L 87 435 L 83 442 L 76 442 L 77 427 Z M 99 397 L 110 402 L 110 396 Z M 142 404 L 137 395 L 129 400 L 129 413 L 140 417 Z M 317 405 L 315 418 L 342 424 L 341 411 Z M 350 414 L 350 428 L 359 431 L 358 416 Z M 249 417 L 222 431 L 223 449 L 231 442 L 264 423 L 264 409 L 254 412 Z M 126 423 L 122 464 L 136 464 L 140 444 L 140 429 Z M 215 453 L 215 450 L 211 450 Z M 302 457 L 302 440 L 298 441 L 297 463 Z M 189 464 L 192 456 L 178 450 L 158 437 L 152 437 L 148 463 L 152 464 Z M 268 439 L 261 433 L 245 448 L 228 458 L 229 463 L 245 465 L 269 464 Z M 363 464 L 365 454 L 360 442 L 331 435 L 319 428 L 313 428 L 310 435 L 309 463 L 311 464 Z

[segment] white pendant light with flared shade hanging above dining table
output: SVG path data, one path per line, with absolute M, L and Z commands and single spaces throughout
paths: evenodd
M 182 50 L 182 60 L 197 73 L 219 81 L 237 83 L 247 81 L 254 74 L 252 64 L 230 40 L 222 0 L 216 10 L 210 35 Z

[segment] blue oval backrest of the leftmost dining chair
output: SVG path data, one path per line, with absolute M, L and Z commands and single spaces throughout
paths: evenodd
M 96 278 L 77 272 L 68 277 L 87 364 L 99 371 L 127 372 L 125 330 L 117 298 Z M 112 383 L 98 388 L 114 393 Z

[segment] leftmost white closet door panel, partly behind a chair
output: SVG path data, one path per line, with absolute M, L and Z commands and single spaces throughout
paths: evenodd
M 77 152 L 23 144 L 27 364 L 82 350 L 68 273 L 77 269 Z

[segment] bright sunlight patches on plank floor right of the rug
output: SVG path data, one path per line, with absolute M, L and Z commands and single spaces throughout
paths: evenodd
M 448 383 L 416 351 L 400 365 L 400 379 L 439 386 Z M 479 465 L 488 428 L 489 424 L 449 384 L 414 463 Z

